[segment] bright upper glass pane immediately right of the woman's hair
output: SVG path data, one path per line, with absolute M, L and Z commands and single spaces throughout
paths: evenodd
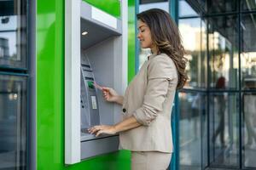
M 186 88 L 207 87 L 207 34 L 206 26 L 200 18 L 179 20 L 179 30 L 183 37 L 185 57 L 189 59 Z

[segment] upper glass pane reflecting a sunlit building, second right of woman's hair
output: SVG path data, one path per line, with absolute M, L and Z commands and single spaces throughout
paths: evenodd
M 210 87 L 238 89 L 238 28 L 237 17 L 227 15 L 209 19 L 208 47 L 210 54 Z M 224 87 L 218 87 L 219 78 Z

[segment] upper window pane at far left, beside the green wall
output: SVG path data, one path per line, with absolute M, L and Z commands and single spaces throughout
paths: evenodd
M 26 68 L 26 0 L 0 1 L 0 66 Z

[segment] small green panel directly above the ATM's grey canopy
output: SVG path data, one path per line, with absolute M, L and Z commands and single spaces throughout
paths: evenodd
M 120 1 L 119 0 L 83 0 L 84 2 L 90 3 L 96 8 L 102 9 L 108 14 L 113 15 L 116 18 L 120 18 Z

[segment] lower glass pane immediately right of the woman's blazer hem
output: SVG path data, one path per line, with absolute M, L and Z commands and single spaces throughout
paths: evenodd
M 207 128 L 201 131 L 201 126 L 205 127 L 207 121 L 206 94 L 179 93 L 179 100 L 180 169 L 201 169 L 201 133 L 203 140 L 207 139 Z

